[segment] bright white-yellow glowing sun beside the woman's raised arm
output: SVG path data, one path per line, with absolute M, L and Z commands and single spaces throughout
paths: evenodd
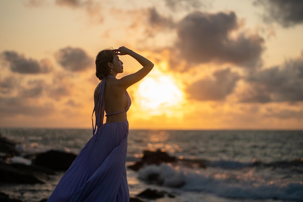
M 139 84 L 136 97 L 143 109 L 159 109 L 181 104 L 183 94 L 173 78 L 162 74 L 144 78 Z

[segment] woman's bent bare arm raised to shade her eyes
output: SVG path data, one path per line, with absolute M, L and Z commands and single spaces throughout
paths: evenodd
M 118 49 L 115 49 L 114 52 L 117 55 L 130 55 L 143 66 L 136 73 L 125 76 L 120 79 L 119 85 L 121 85 L 121 87 L 125 89 L 144 78 L 153 68 L 153 63 L 151 61 L 126 47 L 120 47 Z

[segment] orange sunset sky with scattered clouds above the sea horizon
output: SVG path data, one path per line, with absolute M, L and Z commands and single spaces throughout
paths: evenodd
M 0 127 L 90 128 L 95 57 L 154 63 L 130 129 L 303 129 L 302 0 L 1 0 Z M 120 56 L 124 72 L 141 66 Z

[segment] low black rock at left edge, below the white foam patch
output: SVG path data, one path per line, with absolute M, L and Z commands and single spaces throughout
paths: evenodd
M 48 175 L 41 171 L 32 171 L 31 166 L 24 164 L 7 164 L 0 161 L 0 182 L 21 184 L 43 184 Z

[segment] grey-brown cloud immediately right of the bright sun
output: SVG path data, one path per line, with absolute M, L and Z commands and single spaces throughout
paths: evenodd
M 185 90 L 189 98 L 196 100 L 224 100 L 234 91 L 240 76 L 229 68 L 213 73 L 213 78 L 197 80 Z

